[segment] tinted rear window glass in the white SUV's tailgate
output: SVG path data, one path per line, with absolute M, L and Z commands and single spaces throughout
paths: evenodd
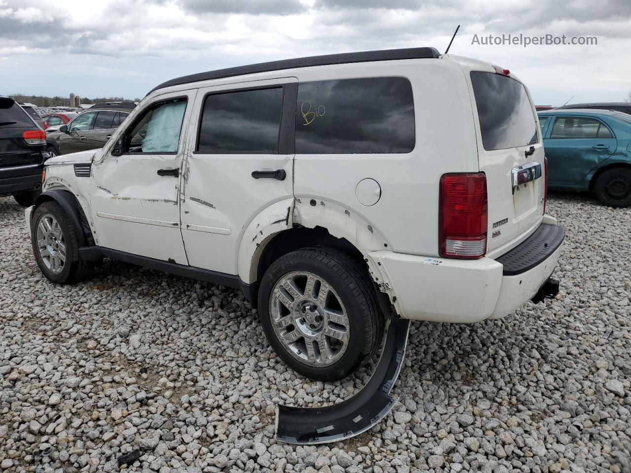
M 471 72 L 484 149 L 516 148 L 537 143 L 537 123 L 526 88 L 515 79 Z

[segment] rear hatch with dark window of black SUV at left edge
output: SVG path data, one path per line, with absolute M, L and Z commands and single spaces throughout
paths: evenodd
M 40 130 L 13 99 L 0 97 L 0 171 L 43 162 L 45 145 L 33 146 L 24 141 L 25 131 Z M 6 174 L 0 174 L 1 177 Z

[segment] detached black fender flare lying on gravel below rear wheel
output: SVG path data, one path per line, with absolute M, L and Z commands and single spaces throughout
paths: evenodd
M 369 382 L 350 399 L 326 407 L 278 406 L 276 439 L 314 445 L 344 440 L 377 424 L 397 401 L 390 390 L 403 365 L 409 330 L 410 320 L 395 317 L 389 321 L 379 363 Z

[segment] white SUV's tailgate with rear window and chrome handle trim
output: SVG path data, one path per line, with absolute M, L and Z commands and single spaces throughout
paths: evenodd
M 493 257 L 540 225 L 545 163 L 528 90 L 509 71 L 485 66 L 465 73 L 474 102 L 480 172 L 487 177 L 487 255 Z

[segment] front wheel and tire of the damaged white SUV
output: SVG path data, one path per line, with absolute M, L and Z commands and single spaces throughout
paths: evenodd
M 33 212 L 31 244 L 37 266 L 53 283 L 79 281 L 90 269 L 79 257 L 76 232 L 57 202 L 44 202 Z

